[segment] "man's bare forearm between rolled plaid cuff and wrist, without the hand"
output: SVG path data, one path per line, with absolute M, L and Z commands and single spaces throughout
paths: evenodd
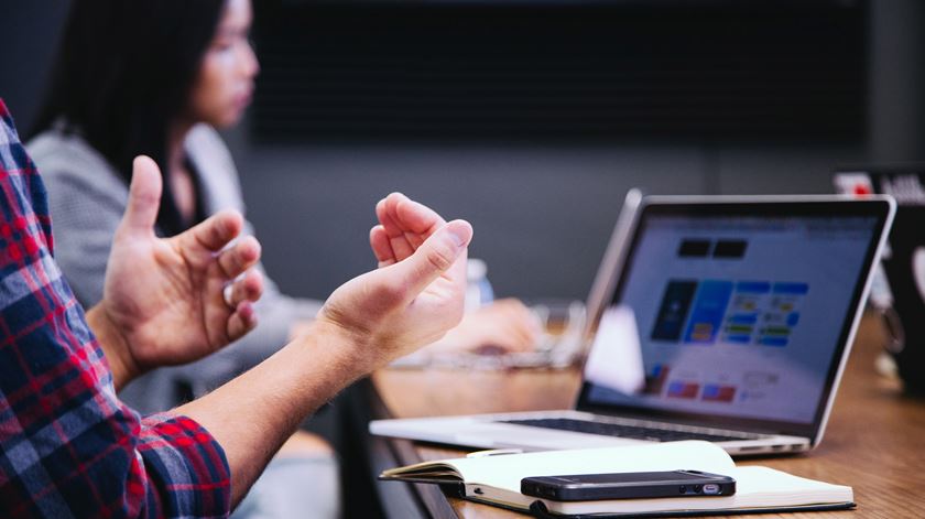
M 273 454 L 306 417 L 366 375 L 363 359 L 340 328 L 313 323 L 253 369 L 174 410 L 196 420 L 225 448 L 237 505 Z

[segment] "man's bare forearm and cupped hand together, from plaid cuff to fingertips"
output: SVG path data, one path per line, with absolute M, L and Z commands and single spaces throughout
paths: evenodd
M 380 269 L 337 289 L 315 321 L 269 359 L 176 409 L 225 448 L 232 506 L 305 417 L 358 377 L 459 323 L 472 227 L 446 224 L 399 194 L 380 202 L 377 214 L 381 224 L 370 242 Z

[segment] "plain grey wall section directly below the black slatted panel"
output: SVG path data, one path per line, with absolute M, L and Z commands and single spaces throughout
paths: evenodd
M 584 299 L 625 192 L 827 193 L 845 147 L 666 144 L 238 148 L 271 274 L 324 298 L 373 267 L 376 202 L 391 191 L 472 221 L 471 255 L 500 295 Z

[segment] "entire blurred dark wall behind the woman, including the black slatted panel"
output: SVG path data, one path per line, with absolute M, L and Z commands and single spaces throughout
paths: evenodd
M 472 221 L 497 295 L 584 299 L 630 187 L 829 193 L 837 166 L 925 159 L 921 0 L 254 3 L 262 73 L 226 139 L 293 295 L 374 266 L 391 191 Z M 0 3 L 23 132 L 67 7 Z

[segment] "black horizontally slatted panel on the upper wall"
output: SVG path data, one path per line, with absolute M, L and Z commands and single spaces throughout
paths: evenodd
M 861 1 L 257 6 L 262 141 L 863 136 Z

